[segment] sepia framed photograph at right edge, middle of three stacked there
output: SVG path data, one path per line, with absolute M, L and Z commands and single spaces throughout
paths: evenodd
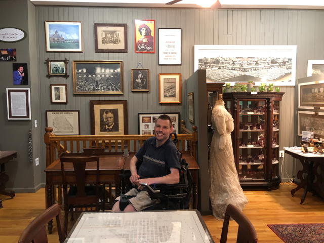
M 324 109 L 324 80 L 298 84 L 299 109 Z

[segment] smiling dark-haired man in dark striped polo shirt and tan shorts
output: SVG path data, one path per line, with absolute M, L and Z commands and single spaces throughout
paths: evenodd
M 173 126 L 168 115 L 160 115 L 155 123 L 154 135 L 145 141 L 143 146 L 135 154 L 130 162 L 130 181 L 135 188 L 126 193 L 127 206 L 124 197 L 120 203 L 120 197 L 116 198 L 112 212 L 118 211 L 142 211 L 148 207 L 160 203 L 160 199 L 151 199 L 148 192 L 143 189 L 141 183 L 178 184 L 180 167 L 180 153 L 171 140 Z M 138 171 L 136 162 L 143 160 Z

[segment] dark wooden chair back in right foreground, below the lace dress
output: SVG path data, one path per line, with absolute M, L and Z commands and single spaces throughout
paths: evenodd
M 238 224 L 236 243 L 257 243 L 258 236 L 250 220 L 233 205 L 229 204 L 226 208 L 223 229 L 220 243 L 227 242 L 229 218 Z

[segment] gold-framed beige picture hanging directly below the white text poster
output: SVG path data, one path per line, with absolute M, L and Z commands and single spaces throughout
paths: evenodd
M 159 73 L 158 94 L 160 104 L 181 104 L 181 73 Z

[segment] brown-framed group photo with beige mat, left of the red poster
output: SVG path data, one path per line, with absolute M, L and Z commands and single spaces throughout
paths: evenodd
M 127 53 L 127 24 L 95 24 L 95 52 Z

